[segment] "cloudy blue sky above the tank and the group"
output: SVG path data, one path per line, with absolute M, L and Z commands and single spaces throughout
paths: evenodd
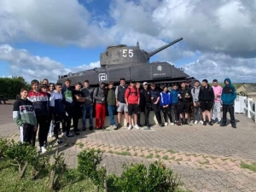
M 49 79 L 100 67 L 109 45 L 151 51 L 195 79 L 256 83 L 256 1 L 1 0 L 0 77 Z

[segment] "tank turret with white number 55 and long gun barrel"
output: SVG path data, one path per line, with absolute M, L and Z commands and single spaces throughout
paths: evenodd
M 140 49 L 139 43 L 137 46 L 127 46 L 126 44 L 118 44 L 113 46 L 108 46 L 108 48 L 101 54 L 100 63 L 102 67 L 113 67 L 113 65 L 126 65 L 126 64 L 140 64 L 148 62 L 150 57 L 157 54 L 163 49 L 166 49 L 172 44 L 183 40 L 183 38 L 178 38 L 170 44 L 166 44 L 159 49 L 147 52 Z

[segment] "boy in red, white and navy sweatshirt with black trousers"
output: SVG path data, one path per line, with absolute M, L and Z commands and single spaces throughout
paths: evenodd
M 46 92 L 39 90 L 39 81 L 34 79 L 31 82 L 32 90 L 29 91 L 27 99 L 32 102 L 35 109 L 37 122 L 39 125 L 38 131 L 38 148 L 44 153 L 46 151 L 45 144 L 47 143 L 47 136 L 49 131 L 49 99 Z M 33 132 L 32 145 L 36 144 L 37 131 Z

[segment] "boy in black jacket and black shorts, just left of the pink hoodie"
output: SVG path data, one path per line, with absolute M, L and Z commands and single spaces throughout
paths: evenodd
M 208 84 L 207 79 L 202 81 L 202 88 L 199 91 L 198 99 L 204 120 L 203 125 L 207 125 L 207 117 L 209 120 L 209 125 L 212 125 L 211 110 L 214 101 L 214 92 L 212 87 Z

